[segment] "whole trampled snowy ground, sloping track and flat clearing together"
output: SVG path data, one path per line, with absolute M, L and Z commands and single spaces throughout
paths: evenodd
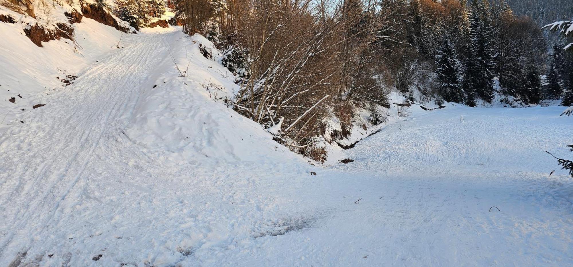
M 562 107 L 414 107 L 312 166 L 213 101 L 236 87 L 193 41 L 125 37 L 10 117 L 1 266 L 573 265 Z

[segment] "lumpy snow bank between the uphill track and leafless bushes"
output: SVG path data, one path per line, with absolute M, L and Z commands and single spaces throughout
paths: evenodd
M 221 164 L 270 168 L 303 162 L 274 142 L 262 125 L 225 104 L 238 85 L 228 69 L 201 53 L 199 46 L 217 56 L 209 40 L 179 32 L 163 45 L 169 55 L 155 68 L 156 82 L 144 89 L 125 128 L 126 138 L 172 166 L 187 162 L 207 168 Z

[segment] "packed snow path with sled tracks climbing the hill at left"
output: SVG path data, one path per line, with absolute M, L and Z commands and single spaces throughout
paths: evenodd
M 121 132 L 121 119 L 132 113 L 149 67 L 165 56 L 164 49 L 159 49 L 164 46 L 162 35 L 140 38 L 138 44 L 81 74 L 65 91 L 54 93 L 45 107 L 2 136 L 3 260 L 15 252 L 25 253 L 28 244 L 50 242 L 50 238 L 36 238 L 61 227 L 62 216 L 72 209 L 62 203 L 88 189 L 89 177 L 96 174 L 86 171 L 101 164 L 96 159 L 104 156 L 107 140 Z

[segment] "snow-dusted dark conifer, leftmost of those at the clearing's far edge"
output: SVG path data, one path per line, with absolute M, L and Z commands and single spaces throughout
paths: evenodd
M 460 62 L 457 60 L 452 43 L 447 37 L 444 38 L 444 44 L 438 51 L 435 64 L 437 65 L 435 74 L 444 100 L 462 103 L 464 91 L 460 86 Z

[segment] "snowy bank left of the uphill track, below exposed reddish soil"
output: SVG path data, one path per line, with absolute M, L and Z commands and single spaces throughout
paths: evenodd
M 38 47 L 25 36 L 20 24 L 0 23 L 0 114 L 7 115 L 6 120 L 39 104 L 40 95 L 63 89 L 61 80 L 66 74 L 77 76 L 115 52 L 122 34 L 90 18 L 74 24 L 74 29 L 79 53 L 73 51 L 68 39 L 44 42 Z M 8 101 L 11 97 L 15 97 L 15 103 Z M 22 108 L 26 111 L 20 111 Z

